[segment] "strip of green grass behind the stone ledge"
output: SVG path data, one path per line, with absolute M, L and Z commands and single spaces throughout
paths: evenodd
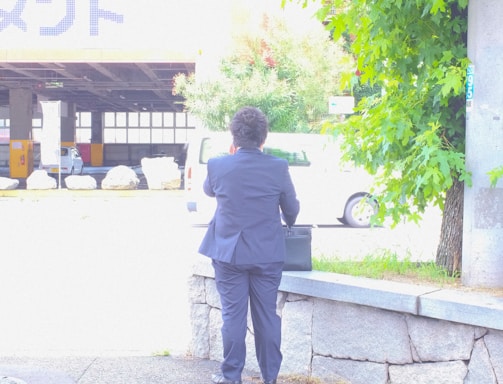
M 447 270 L 435 262 L 411 261 L 409 256 L 400 259 L 390 251 L 382 255 L 367 255 L 362 260 L 313 257 L 313 269 L 379 280 L 412 280 L 440 285 L 459 282 L 459 276 L 450 276 Z

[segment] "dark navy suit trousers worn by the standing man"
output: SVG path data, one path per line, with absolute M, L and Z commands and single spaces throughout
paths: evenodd
M 240 380 L 246 360 L 248 299 L 255 352 L 265 381 L 277 378 L 281 366 L 281 318 L 276 313 L 283 263 L 233 265 L 213 260 L 222 303 L 222 373 Z

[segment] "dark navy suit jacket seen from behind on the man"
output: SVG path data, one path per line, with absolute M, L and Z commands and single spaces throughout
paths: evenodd
M 280 209 L 287 225 L 299 213 L 288 162 L 252 148 L 208 161 L 204 192 L 217 199 L 199 252 L 234 264 L 284 261 Z

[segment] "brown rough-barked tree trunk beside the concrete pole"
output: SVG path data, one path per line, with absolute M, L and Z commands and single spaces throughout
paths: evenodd
M 463 246 L 463 197 L 464 183 L 454 180 L 445 196 L 444 214 L 436 263 L 449 274 L 461 273 L 461 251 Z

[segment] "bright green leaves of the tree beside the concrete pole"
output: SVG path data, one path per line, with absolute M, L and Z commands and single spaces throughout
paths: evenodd
M 382 190 L 377 219 L 417 221 L 428 204 L 443 208 L 454 179 L 470 185 L 467 0 L 333 0 L 320 7 L 334 40 L 351 37 L 361 74 L 352 83 L 382 90 L 362 97 L 344 123 L 324 126 L 342 136 L 348 160 L 376 175 Z

